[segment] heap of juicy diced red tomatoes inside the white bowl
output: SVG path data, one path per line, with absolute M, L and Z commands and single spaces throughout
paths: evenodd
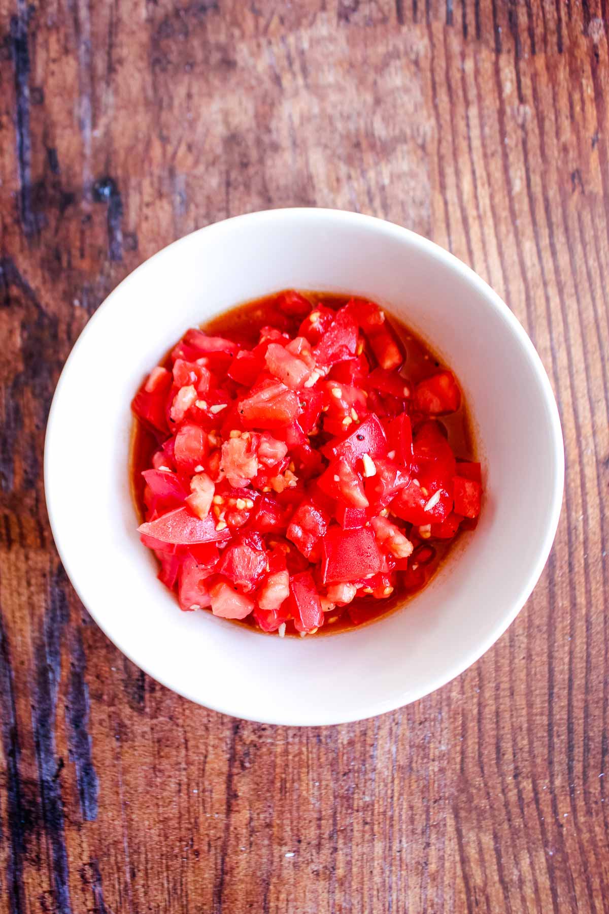
M 184 611 L 279 635 L 360 624 L 478 523 L 480 465 L 438 419 L 461 392 L 411 367 L 376 303 L 265 301 L 265 325 L 189 329 L 133 398 L 142 544 Z

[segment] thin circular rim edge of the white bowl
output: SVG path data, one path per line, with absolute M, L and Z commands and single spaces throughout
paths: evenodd
M 119 295 L 125 291 L 125 288 L 131 282 L 133 282 L 136 274 L 148 268 L 152 261 L 158 263 L 160 260 L 165 258 L 171 258 L 173 250 L 175 250 L 180 245 L 189 243 L 189 241 L 194 239 L 194 236 L 205 236 L 205 233 L 211 234 L 231 232 L 233 229 L 238 229 L 240 226 L 247 224 L 248 222 L 265 222 L 266 220 L 275 221 L 287 218 L 290 219 L 294 217 L 303 219 L 305 221 L 327 219 L 341 224 L 359 224 L 360 226 L 372 230 L 373 232 L 380 232 L 387 237 L 393 237 L 394 239 L 405 241 L 413 250 L 419 250 L 420 252 L 425 253 L 428 256 L 435 258 L 436 260 L 443 261 L 446 267 L 460 274 L 468 284 L 470 284 L 474 289 L 478 291 L 478 293 L 481 294 L 481 296 L 485 299 L 485 302 L 488 304 L 488 307 L 493 309 L 496 314 L 499 315 L 499 318 L 502 320 L 503 324 L 506 325 L 507 331 L 516 337 L 516 341 L 520 344 L 524 355 L 527 356 L 528 360 L 530 361 L 530 366 L 533 369 L 535 381 L 537 382 L 541 397 L 547 409 L 549 429 L 551 431 L 551 452 L 553 458 L 553 466 L 551 467 L 551 471 L 554 479 L 554 485 L 551 491 L 551 504 L 549 506 L 546 519 L 545 532 L 540 543 L 536 547 L 536 562 L 533 565 L 527 579 L 523 580 L 520 587 L 519 596 L 516 600 L 514 600 L 511 610 L 505 613 L 505 615 L 499 620 L 497 625 L 491 630 L 491 632 L 489 632 L 488 636 L 481 643 L 475 643 L 472 648 L 462 656 L 461 659 L 456 660 L 452 664 L 446 664 L 445 670 L 441 674 L 436 675 L 436 678 L 432 680 L 431 683 L 427 683 L 426 685 L 415 689 L 414 692 L 409 690 L 409 694 L 407 696 L 404 690 L 404 697 L 402 699 L 400 699 L 400 696 L 397 696 L 396 700 L 395 695 L 384 699 L 382 697 L 371 699 L 368 703 L 366 703 L 365 707 L 362 707 L 361 713 L 354 713 L 348 717 L 341 716 L 340 719 L 335 719 L 331 713 L 324 714 L 323 712 L 317 713 L 315 720 L 278 719 L 278 717 L 273 717 L 272 715 L 263 715 L 261 717 L 244 716 L 239 712 L 238 708 L 233 707 L 230 705 L 230 703 L 229 707 L 229 705 L 223 704 L 222 701 L 216 701 L 215 696 L 211 696 L 210 698 L 205 696 L 204 703 L 199 696 L 190 694 L 187 689 L 184 689 L 178 683 L 173 682 L 171 675 L 165 676 L 163 675 L 163 671 L 150 669 L 148 664 L 145 662 L 142 663 L 140 658 L 136 659 L 131 655 L 130 652 L 125 651 L 121 644 L 117 643 L 117 641 L 114 640 L 112 633 L 106 628 L 106 625 L 103 621 L 103 615 L 100 615 L 98 612 L 91 609 L 89 607 L 89 603 L 84 600 L 81 595 L 79 571 L 73 566 L 70 560 L 68 550 L 65 548 L 61 533 L 61 522 L 59 521 L 60 494 L 57 490 L 54 489 L 50 470 L 50 452 L 53 445 L 52 430 L 55 417 L 57 416 L 61 406 L 62 391 L 69 381 L 70 365 L 74 360 L 75 354 L 79 347 L 85 340 L 89 338 L 89 335 L 94 333 L 99 315 L 104 311 L 108 311 L 113 300 L 117 299 Z M 532 344 L 529 335 L 525 331 L 522 324 L 520 324 L 520 321 L 516 315 L 510 311 L 508 305 L 500 298 L 499 294 L 488 285 L 488 282 L 478 276 L 476 271 L 467 266 L 467 264 L 462 260 L 459 260 L 456 255 L 436 244 L 435 241 L 431 241 L 430 239 L 425 238 L 425 236 L 419 235 L 410 228 L 404 228 L 404 226 L 400 226 L 386 219 L 352 212 L 351 210 L 334 209 L 330 207 L 284 207 L 278 209 L 257 210 L 255 212 L 221 219 L 217 222 L 210 223 L 203 228 L 194 229 L 193 232 L 189 232 L 187 235 L 174 240 L 169 245 L 166 245 L 161 250 L 158 250 L 156 253 L 152 254 L 150 258 L 144 260 L 135 268 L 135 270 L 128 273 L 128 275 L 125 276 L 124 279 L 114 287 L 114 289 L 112 289 L 112 291 L 103 300 L 103 302 L 100 303 L 100 306 L 96 309 L 95 313 L 91 315 L 88 323 L 84 326 L 81 333 L 79 334 L 78 339 L 72 346 L 72 349 L 70 350 L 68 358 L 66 359 L 66 362 L 58 378 L 58 383 L 55 388 L 47 419 L 47 430 L 44 446 L 44 488 L 49 526 L 51 528 L 55 545 L 58 550 L 59 558 L 64 569 L 66 570 L 72 587 L 79 596 L 79 600 L 81 600 L 89 612 L 89 615 L 100 626 L 101 631 L 104 632 L 106 637 L 108 637 L 110 641 L 115 644 L 116 647 L 118 647 L 121 653 L 127 656 L 133 664 L 136 664 L 147 675 L 150 675 L 155 681 L 171 689 L 173 692 L 176 692 L 178 695 L 193 701 L 197 705 L 202 705 L 203 707 L 210 708 L 211 710 L 215 710 L 219 713 L 226 714 L 231 717 L 239 717 L 241 719 L 278 726 L 332 726 L 339 723 L 349 723 L 352 721 L 364 720 L 369 717 L 375 717 L 376 715 L 395 710 L 398 707 L 404 707 L 405 704 L 411 704 L 412 702 L 418 701 L 424 696 L 430 695 L 432 692 L 435 692 L 436 689 L 451 682 L 458 675 L 461 675 L 465 670 L 467 670 L 469 666 L 475 664 L 478 659 L 483 654 L 486 654 L 488 649 L 495 642 L 497 642 L 501 635 L 509 628 L 509 625 L 514 621 L 526 601 L 529 599 L 532 590 L 540 579 L 541 572 L 543 571 L 550 555 L 554 537 L 556 536 L 556 531 L 562 510 L 562 498 L 564 489 L 564 443 L 562 439 L 562 427 L 558 406 L 554 397 L 553 390 L 551 388 L 550 378 L 548 377 L 545 367 L 541 362 L 541 356 L 535 349 L 535 346 Z

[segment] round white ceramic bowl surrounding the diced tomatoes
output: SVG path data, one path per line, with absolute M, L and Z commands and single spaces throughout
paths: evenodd
M 187 327 L 284 288 L 383 303 L 457 373 L 478 428 L 478 529 L 401 611 L 331 637 L 279 639 L 181 612 L 136 533 L 130 401 Z M 548 558 L 562 504 L 561 425 L 529 337 L 488 285 L 431 241 L 329 209 L 202 228 L 131 273 L 59 379 L 45 449 L 59 554 L 89 612 L 155 679 L 207 707 L 275 724 L 334 724 L 425 696 L 512 622 Z

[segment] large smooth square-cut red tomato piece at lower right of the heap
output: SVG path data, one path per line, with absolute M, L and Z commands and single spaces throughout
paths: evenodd
M 383 571 L 385 565 L 373 531 L 367 526 L 360 530 L 331 526 L 321 542 L 321 551 L 324 584 L 366 578 Z

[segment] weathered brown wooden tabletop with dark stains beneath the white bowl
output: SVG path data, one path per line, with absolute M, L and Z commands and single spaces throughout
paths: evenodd
M 0 3 L 3 914 L 609 909 L 606 12 Z M 292 205 L 471 264 L 539 349 L 567 449 L 555 547 L 499 643 L 415 705 L 302 730 L 125 660 L 42 484 L 60 368 L 108 292 L 194 228 Z M 94 468 L 82 496 L 93 521 Z

